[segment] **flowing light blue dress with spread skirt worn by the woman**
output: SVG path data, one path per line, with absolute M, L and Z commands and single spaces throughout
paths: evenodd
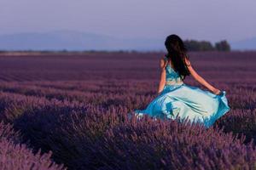
M 168 64 L 163 91 L 145 110 L 135 110 L 134 113 L 137 117 L 147 114 L 154 119 L 175 119 L 179 116 L 181 120 L 189 118 L 190 122 L 200 122 L 205 127 L 211 127 L 220 116 L 230 111 L 225 94 L 222 91 L 216 95 L 185 84 L 178 72 Z

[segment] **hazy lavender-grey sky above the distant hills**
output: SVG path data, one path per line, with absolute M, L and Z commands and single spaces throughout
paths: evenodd
M 73 30 L 114 37 L 256 37 L 256 0 L 0 0 L 0 34 Z

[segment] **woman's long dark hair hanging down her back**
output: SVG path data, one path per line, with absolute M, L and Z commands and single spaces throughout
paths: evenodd
M 171 59 L 174 70 L 179 73 L 179 76 L 184 79 L 190 75 L 188 65 L 185 62 L 185 58 L 189 58 L 187 55 L 187 48 L 185 47 L 183 40 L 175 34 L 166 37 L 166 49 L 167 59 Z

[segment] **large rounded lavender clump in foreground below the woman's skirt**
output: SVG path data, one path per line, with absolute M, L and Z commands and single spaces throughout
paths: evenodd
M 222 130 L 149 119 L 108 129 L 94 154 L 107 169 L 255 169 L 255 148 L 242 142 Z

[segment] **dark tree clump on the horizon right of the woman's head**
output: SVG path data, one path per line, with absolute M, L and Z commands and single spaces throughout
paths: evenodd
M 230 51 L 230 43 L 226 40 L 215 42 L 212 45 L 208 41 L 185 40 L 184 44 L 188 51 Z

